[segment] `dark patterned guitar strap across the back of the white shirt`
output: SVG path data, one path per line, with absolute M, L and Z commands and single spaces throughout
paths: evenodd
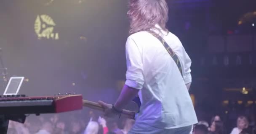
M 171 47 L 165 42 L 165 40 L 161 37 L 161 36 L 156 36 L 154 34 L 152 34 L 153 36 L 155 36 L 157 39 L 159 39 L 159 41 L 163 44 L 163 46 L 165 47 L 165 49 L 167 50 L 167 52 L 171 55 L 171 57 L 173 58 L 174 62 L 177 64 L 177 67 L 179 68 L 179 72 L 182 75 L 182 68 L 181 68 L 181 62 L 178 58 L 178 56 L 173 52 L 173 50 L 171 49 Z

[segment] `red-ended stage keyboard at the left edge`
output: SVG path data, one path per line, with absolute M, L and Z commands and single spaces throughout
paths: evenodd
M 0 96 L 0 114 L 61 113 L 82 108 L 82 95 Z

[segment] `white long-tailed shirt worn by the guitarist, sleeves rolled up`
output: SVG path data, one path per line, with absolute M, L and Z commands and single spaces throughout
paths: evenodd
M 151 33 L 141 31 L 128 37 L 125 84 L 140 90 L 141 99 L 140 113 L 131 130 L 134 133 L 141 133 L 150 126 L 173 129 L 197 123 L 185 85 L 192 81 L 191 60 L 178 37 L 162 32 L 163 39 L 179 57 L 183 77 L 163 44 Z

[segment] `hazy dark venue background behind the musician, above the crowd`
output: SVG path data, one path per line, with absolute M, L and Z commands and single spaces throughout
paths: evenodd
M 28 78 L 20 90 L 26 95 L 79 93 L 113 103 L 125 80 L 127 1 L 49 1 L 1 0 L 0 47 L 8 77 Z M 256 1 L 168 0 L 168 5 L 167 26 L 192 59 L 190 92 L 198 118 L 232 111 L 237 101 L 243 101 L 237 111 L 255 109 Z M 37 38 L 34 23 L 42 14 L 56 23 L 59 40 Z M 238 25 L 242 18 L 247 19 Z M 248 94 L 241 93 L 243 87 Z M 225 100 L 229 106 L 222 105 Z

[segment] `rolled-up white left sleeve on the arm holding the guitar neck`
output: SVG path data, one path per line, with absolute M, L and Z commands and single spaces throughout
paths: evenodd
M 127 64 L 125 85 L 140 90 L 144 84 L 142 54 L 131 37 L 126 41 L 125 54 Z

